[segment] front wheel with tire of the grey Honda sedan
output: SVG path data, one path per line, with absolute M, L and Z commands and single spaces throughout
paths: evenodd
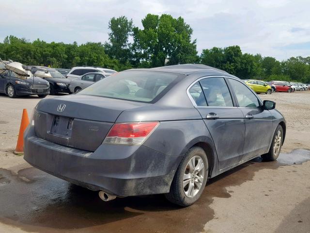
M 261 155 L 265 161 L 275 161 L 278 159 L 283 143 L 283 129 L 278 125 L 271 142 L 268 153 Z

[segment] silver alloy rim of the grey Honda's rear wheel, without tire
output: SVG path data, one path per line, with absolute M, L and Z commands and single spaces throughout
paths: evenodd
M 203 178 L 205 176 L 204 163 L 200 156 L 192 157 L 185 168 L 183 175 L 183 190 L 188 198 L 197 195 L 202 187 Z

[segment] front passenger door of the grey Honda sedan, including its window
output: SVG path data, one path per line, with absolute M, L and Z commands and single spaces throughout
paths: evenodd
M 245 117 L 246 133 L 243 147 L 244 158 L 261 155 L 269 149 L 273 133 L 273 117 L 264 110 L 257 96 L 239 80 L 229 78 L 235 99 Z

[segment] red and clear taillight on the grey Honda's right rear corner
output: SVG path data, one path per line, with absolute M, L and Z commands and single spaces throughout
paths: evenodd
M 158 124 L 158 121 L 116 123 L 110 129 L 103 143 L 126 145 L 142 144 Z

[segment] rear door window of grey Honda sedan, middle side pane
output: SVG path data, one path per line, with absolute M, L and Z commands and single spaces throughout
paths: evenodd
M 206 78 L 200 84 L 208 106 L 233 107 L 232 96 L 224 78 Z

